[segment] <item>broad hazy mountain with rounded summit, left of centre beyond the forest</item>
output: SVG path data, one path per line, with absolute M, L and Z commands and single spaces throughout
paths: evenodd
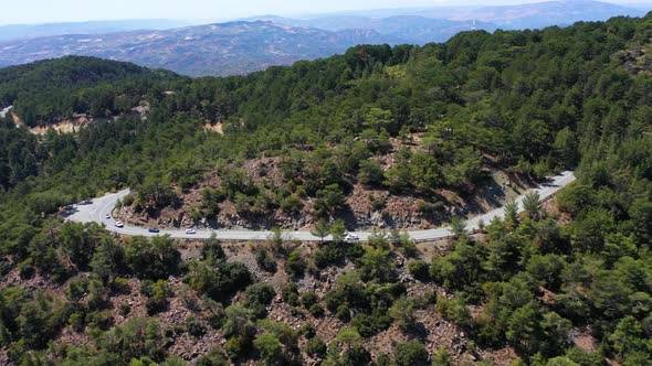
M 0 44 L 0 66 L 84 55 L 191 75 L 234 75 L 392 40 L 374 31 L 329 32 L 270 22 L 231 22 L 168 31 L 61 35 Z

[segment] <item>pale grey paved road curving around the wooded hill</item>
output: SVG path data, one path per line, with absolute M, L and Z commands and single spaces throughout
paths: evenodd
M 541 200 L 546 200 L 553 196 L 555 193 L 557 193 L 566 185 L 572 183 L 575 180 L 576 177 L 574 172 L 566 171 L 558 175 L 551 176 L 548 181 L 528 192 L 536 191 L 538 192 Z M 93 200 L 92 203 L 88 205 L 75 205 L 75 212 L 67 217 L 67 220 L 76 223 L 98 223 L 101 225 L 105 225 L 106 229 L 109 232 L 128 236 L 153 237 L 156 235 L 169 235 L 172 238 L 179 239 L 208 239 L 214 233 L 219 239 L 224 240 L 266 240 L 272 235 L 271 232 L 228 229 L 197 230 L 197 234 L 186 234 L 185 229 L 161 229 L 160 233 L 156 234 L 149 233 L 148 229 L 145 227 L 127 225 L 125 225 L 125 227 L 116 227 L 115 220 L 113 218 L 107 219 L 106 215 L 109 215 L 109 217 L 112 217 L 112 212 L 115 208 L 117 201 L 129 194 L 129 190 L 124 190 L 117 193 L 109 193 L 104 195 L 103 197 L 97 197 Z M 522 201 L 524 196 L 525 194 L 518 196 L 518 198 L 516 200 L 516 202 L 518 203 L 519 212 L 523 211 Z M 488 224 L 494 217 L 504 217 L 504 208 L 498 207 L 496 209 L 487 212 L 486 214 L 469 218 L 466 220 L 466 229 L 471 232 L 476 230 L 479 228 L 479 223 L 481 220 Z M 361 241 L 368 240 L 369 236 L 372 235 L 372 233 L 369 232 L 356 232 L 354 234 L 358 235 Z M 452 236 L 448 227 L 440 227 L 428 230 L 409 230 L 408 234 L 412 239 L 418 241 L 437 240 Z M 296 239 L 302 241 L 322 240 L 319 237 L 312 235 L 309 232 L 284 232 L 283 235 L 287 239 Z M 325 239 L 328 239 L 328 237 L 326 237 Z

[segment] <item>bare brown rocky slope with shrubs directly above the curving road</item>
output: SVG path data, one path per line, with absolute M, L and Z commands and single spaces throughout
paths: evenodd
M 343 183 L 344 190 L 333 186 L 311 197 L 304 187 L 296 187 L 299 182 L 309 185 L 309 179 L 304 176 L 302 181 L 299 176 L 290 176 L 287 160 L 261 158 L 232 164 L 228 174 L 221 174 L 224 171 L 207 173 L 191 186 L 173 187 L 173 198 L 165 206 L 134 193 L 116 216 L 138 226 L 166 228 L 307 230 L 330 214 L 334 219 L 341 219 L 349 230 L 425 229 L 449 223 L 454 216 L 474 216 L 499 207 L 533 184 L 522 174 L 509 173 L 486 158 L 486 168 L 465 190 L 397 192 L 382 184 L 400 164 L 397 154 L 402 146 L 399 141 L 392 142 L 387 153 L 370 159 L 380 168 L 375 183 L 367 182 L 364 176 L 348 176 Z M 416 152 L 422 149 L 411 148 Z M 229 193 L 233 180 L 242 180 L 243 191 L 254 196 Z

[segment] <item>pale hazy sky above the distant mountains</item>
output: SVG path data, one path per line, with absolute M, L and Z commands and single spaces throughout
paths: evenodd
M 347 10 L 430 6 L 493 6 L 546 0 L 0 0 L 0 24 L 91 20 L 227 20 L 261 14 L 297 15 Z M 607 0 L 650 3 L 652 0 Z

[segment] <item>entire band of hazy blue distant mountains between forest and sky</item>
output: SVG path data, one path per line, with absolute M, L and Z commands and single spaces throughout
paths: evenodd
M 175 29 L 168 29 L 175 26 L 173 21 L 165 20 L 7 25 L 0 26 L 0 67 L 86 55 L 168 68 L 190 76 L 224 76 L 327 57 L 357 44 L 444 42 L 462 31 L 568 25 L 616 15 L 642 17 L 645 11 L 575 0 L 367 13 L 387 17 L 346 13 L 290 19 L 263 15 Z M 21 39 L 7 41 L 17 36 Z

